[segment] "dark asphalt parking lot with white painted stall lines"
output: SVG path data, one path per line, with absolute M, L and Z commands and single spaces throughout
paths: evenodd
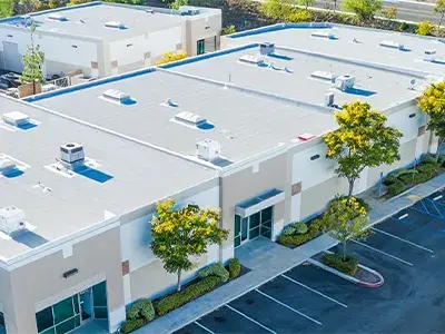
M 301 264 L 176 333 L 445 333 L 445 191 L 373 229 L 348 252 L 382 287 Z

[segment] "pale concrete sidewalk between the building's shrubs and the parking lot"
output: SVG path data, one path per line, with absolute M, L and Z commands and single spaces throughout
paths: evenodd
M 445 174 L 386 202 L 376 199 L 375 189 L 369 189 L 360 194 L 359 197 L 365 198 L 369 204 L 369 226 L 373 226 L 444 187 Z M 157 318 L 134 333 L 164 334 L 175 332 L 336 244 L 337 240 L 326 234 L 295 249 L 289 249 L 265 238 L 253 240 L 236 252 L 241 264 L 249 267 L 251 272 Z

